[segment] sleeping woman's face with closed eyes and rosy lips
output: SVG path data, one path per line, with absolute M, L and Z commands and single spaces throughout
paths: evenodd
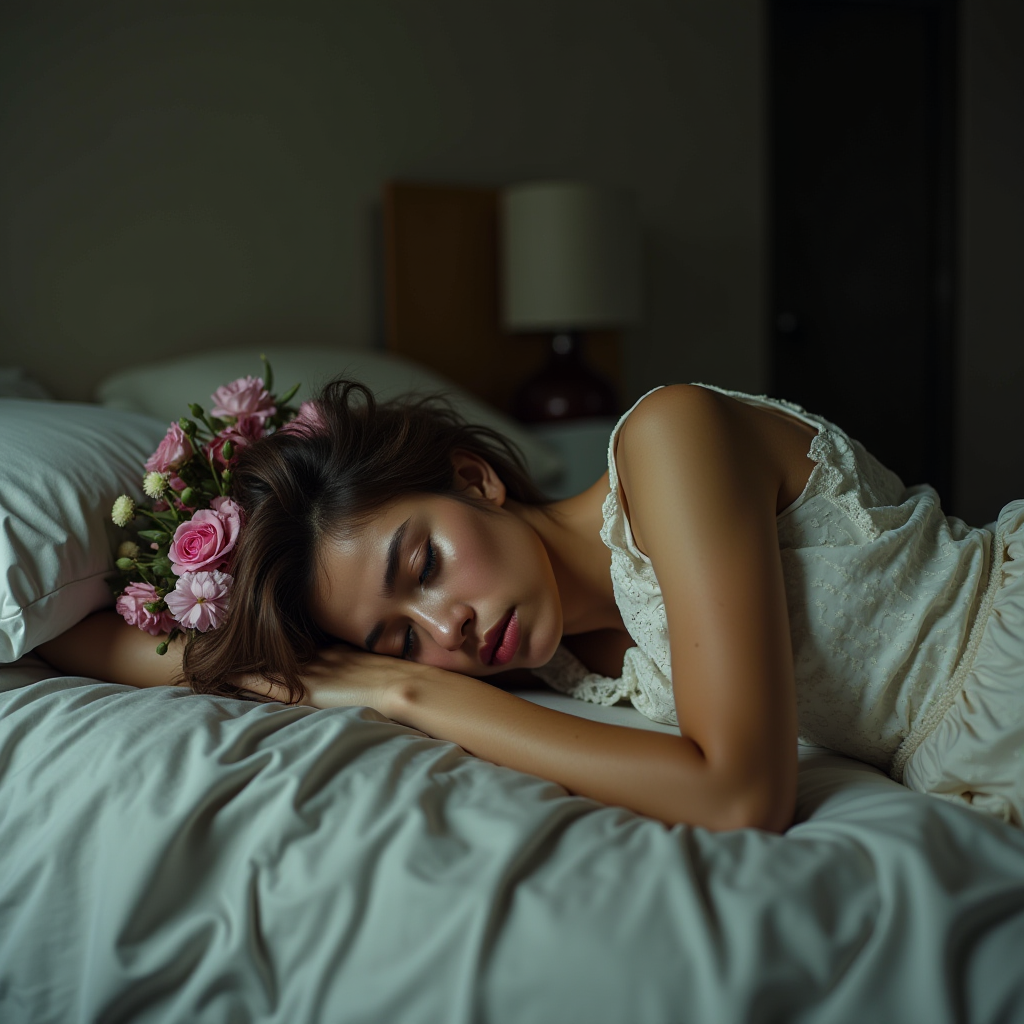
M 469 676 L 550 660 L 562 611 L 544 544 L 504 507 L 500 481 L 497 490 L 478 481 L 464 493 L 494 511 L 410 496 L 353 537 L 326 542 L 311 606 L 317 626 L 380 654 Z

